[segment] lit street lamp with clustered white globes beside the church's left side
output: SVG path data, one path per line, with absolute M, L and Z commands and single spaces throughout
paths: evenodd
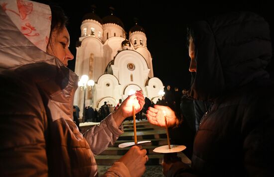
M 80 87 L 81 91 L 84 91 L 84 105 L 83 105 L 83 118 L 82 118 L 82 122 L 85 122 L 85 115 L 86 115 L 86 111 L 85 111 L 85 102 L 86 102 L 86 89 L 91 90 L 91 87 L 94 86 L 94 81 L 93 80 L 89 80 L 89 77 L 87 75 L 83 75 L 80 79 L 80 81 L 78 82 L 78 87 Z

